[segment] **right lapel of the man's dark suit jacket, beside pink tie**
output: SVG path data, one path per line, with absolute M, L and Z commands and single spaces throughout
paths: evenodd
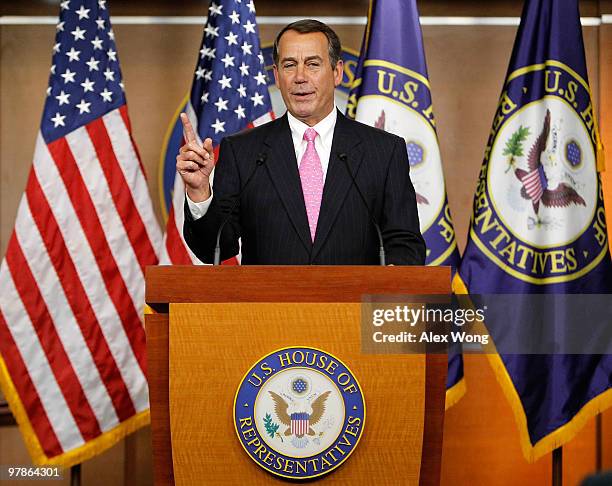
M 327 167 L 327 176 L 325 178 L 325 186 L 323 187 L 323 200 L 321 201 L 321 211 L 319 212 L 319 221 L 317 222 L 317 232 L 315 235 L 314 248 L 311 258 L 315 258 L 325 240 L 329 236 L 329 232 L 334 225 L 340 208 L 344 204 L 344 199 L 348 194 L 348 190 L 352 186 L 351 176 L 347 173 L 346 166 L 342 160 L 338 158 L 339 154 L 346 154 L 347 163 L 351 169 L 353 176 L 356 176 L 357 171 L 363 160 L 363 153 L 355 150 L 361 143 L 359 136 L 351 127 L 351 122 L 338 111 L 336 119 L 336 127 L 334 129 L 334 138 L 332 148 L 329 154 L 329 165 Z M 294 156 L 295 160 L 295 156 Z M 298 176 L 299 181 L 299 176 Z M 300 194 L 301 194 L 300 185 Z M 304 205 L 302 196 L 302 205 Z M 304 214 L 305 210 L 304 210 Z

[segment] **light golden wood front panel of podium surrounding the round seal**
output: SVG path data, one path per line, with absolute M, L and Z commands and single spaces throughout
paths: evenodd
M 232 413 L 248 369 L 263 355 L 288 346 L 312 346 L 335 355 L 365 394 L 361 441 L 324 481 L 419 484 L 425 356 L 361 354 L 359 304 L 171 304 L 170 316 L 177 485 L 281 482 L 242 449 Z

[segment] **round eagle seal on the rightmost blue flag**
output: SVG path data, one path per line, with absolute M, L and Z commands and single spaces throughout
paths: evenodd
M 569 282 L 608 252 L 588 84 L 554 60 L 511 73 L 495 116 L 471 237 L 506 273 Z

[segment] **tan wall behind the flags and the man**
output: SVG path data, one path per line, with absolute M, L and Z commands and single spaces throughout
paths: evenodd
M 205 3 L 205 2 L 204 2 Z M 365 15 L 367 1 L 257 1 L 259 15 Z M 110 1 L 115 15 L 198 15 L 202 2 Z M 519 15 L 520 2 L 419 2 L 423 15 Z M 581 2 L 583 15 L 598 15 L 595 1 Z M 56 15 L 44 2 L 3 2 L 3 14 Z M 271 42 L 276 26 L 260 25 L 262 42 Z M 343 43 L 359 49 L 363 27 L 338 27 Z M 598 46 L 599 30 L 584 29 L 587 63 L 594 93 L 599 67 L 612 61 L 612 35 Z M 470 206 L 493 113 L 507 69 L 514 27 L 425 26 L 424 41 L 450 207 L 460 248 L 466 241 Z M 197 26 L 115 26 L 117 46 L 134 136 L 149 177 L 161 222 L 158 162 L 162 140 L 187 93 L 201 41 Z M 0 254 L 4 254 L 28 175 L 44 104 L 53 26 L 0 27 Z M 606 61 L 607 59 L 607 61 Z M 608 77 L 606 79 L 612 79 Z M 603 95 L 602 95 L 603 96 Z M 612 108 L 609 110 L 612 116 Z M 606 124 L 606 121 L 608 123 Z M 602 127 L 612 125 L 602 121 Z M 612 132 L 611 132 L 612 133 Z M 609 143 L 612 143 L 612 139 Z M 610 158 L 610 157 L 609 157 Z M 610 165 L 611 162 L 608 163 Z M 447 415 L 444 484 L 550 484 L 550 457 L 535 465 L 522 460 L 509 407 L 484 360 L 467 361 L 468 395 Z M 612 436 L 612 415 L 604 416 Z M 488 424 L 488 425 L 487 425 Z M 494 425 L 494 426 L 491 426 Z M 497 452 L 496 452 L 497 449 Z M 84 484 L 150 484 L 149 433 L 141 431 L 84 466 Z M 612 444 L 605 460 L 612 467 Z M 500 456 L 501 454 L 501 456 Z M 466 461 L 466 456 L 471 459 Z M 15 428 L 0 428 L 0 464 L 27 462 Z M 594 468 L 591 422 L 564 456 L 566 484 Z M 492 482 L 494 481 L 494 482 Z M 24 483 L 26 484 L 26 483 Z M 65 483 L 68 484 L 68 483 Z

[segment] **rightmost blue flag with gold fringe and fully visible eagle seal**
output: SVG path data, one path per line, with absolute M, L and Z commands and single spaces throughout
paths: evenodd
M 453 282 L 457 293 L 610 293 L 595 116 L 578 0 L 527 0 Z M 518 307 L 504 316 L 506 328 L 520 328 Z M 563 316 L 557 313 L 555 328 L 563 329 Z M 569 441 L 612 403 L 610 355 L 489 359 L 529 461 Z

